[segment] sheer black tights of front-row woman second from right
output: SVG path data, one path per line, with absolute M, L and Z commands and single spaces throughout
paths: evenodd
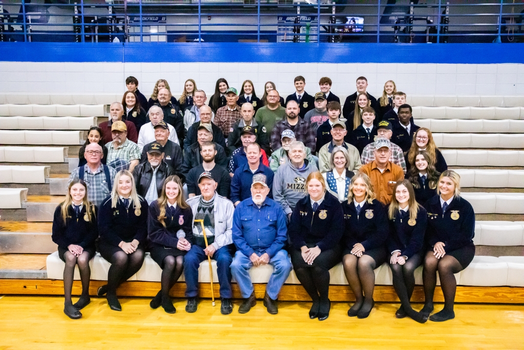
M 413 254 L 413 256 L 406 260 L 406 263 L 403 265 L 398 263 L 389 264 L 393 274 L 393 287 L 402 303 L 402 308 L 406 312 L 412 310 L 410 299 L 413 294 L 413 289 L 415 288 L 414 271 L 420 266 L 421 262 L 422 253 L 417 253 Z

